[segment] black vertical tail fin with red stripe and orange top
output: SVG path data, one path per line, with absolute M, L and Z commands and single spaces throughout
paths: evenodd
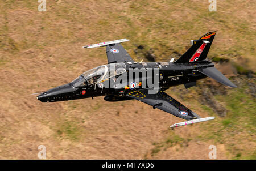
M 174 63 L 189 63 L 203 61 L 206 59 L 210 46 L 212 45 L 216 32 L 209 32 L 200 37 L 199 40 L 192 40 L 192 46 Z

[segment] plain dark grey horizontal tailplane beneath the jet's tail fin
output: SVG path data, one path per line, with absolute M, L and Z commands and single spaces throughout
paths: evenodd
M 229 87 L 237 87 L 235 84 L 230 82 L 228 78 L 226 78 L 220 71 L 218 71 L 215 67 L 208 67 L 205 69 L 198 70 L 204 75 L 209 76 L 210 78 L 216 80 L 217 82 L 220 82 L 226 86 Z

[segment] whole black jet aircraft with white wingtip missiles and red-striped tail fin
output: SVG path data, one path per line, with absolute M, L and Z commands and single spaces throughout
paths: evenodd
M 201 118 L 164 91 L 171 86 L 179 84 L 184 84 L 185 88 L 196 86 L 196 80 L 207 76 L 226 86 L 236 87 L 214 67 L 212 62 L 206 60 L 215 35 L 216 32 L 209 32 L 198 40 L 191 40 L 191 48 L 175 62 L 173 62 L 174 59 L 169 62 L 135 62 L 121 45 L 121 42 L 129 41 L 127 39 L 83 46 L 82 48 L 106 47 L 108 64 L 86 71 L 72 82 L 49 89 L 37 98 L 42 102 L 75 100 L 96 96 L 105 96 L 104 99 L 106 101 L 136 99 L 151 105 L 154 109 L 158 108 L 187 120 L 175 123 L 171 127 L 214 119 L 214 117 Z M 113 72 L 110 71 L 111 66 L 114 66 Z M 154 80 L 159 83 L 157 93 L 148 93 L 150 88 L 148 86 L 142 87 L 143 79 L 148 79 L 147 76 L 143 77 L 142 75 L 139 75 L 138 82 L 127 80 L 127 82 L 122 83 L 122 86 L 118 86 L 121 84 L 117 84 L 114 87 L 102 86 L 102 84 L 105 85 L 110 80 L 116 82 L 119 76 L 127 74 L 129 69 L 136 68 L 145 69 L 146 71 L 159 69 L 159 80 Z

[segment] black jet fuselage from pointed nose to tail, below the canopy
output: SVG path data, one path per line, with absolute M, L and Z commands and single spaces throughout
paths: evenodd
M 213 63 L 208 61 L 191 62 L 191 63 L 168 63 L 168 62 L 143 62 L 143 63 L 127 63 L 126 74 L 129 75 L 129 69 L 158 69 L 159 76 L 159 90 L 165 90 L 172 86 L 177 86 L 179 84 L 184 84 L 186 88 L 195 86 L 196 80 L 205 78 L 204 74 L 201 74 L 198 69 L 205 67 L 214 66 Z M 111 79 L 118 79 L 117 75 Z M 148 79 L 139 77 L 139 82 Z M 110 80 L 110 79 L 109 79 Z M 38 100 L 42 102 L 55 102 L 55 101 L 65 101 L 65 100 L 75 100 L 83 99 L 88 97 L 105 96 L 107 101 L 121 101 L 129 100 L 129 97 L 125 95 L 131 91 L 136 91 L 142 88 L 142 86 L 137 86 L 135 88 L 129 88 L 130 82 L 127 79 L 126 87 L 98 87 L 97 84 L 90 84 L 81 87 L 74 87 L 72 83 L 64 84 L 59 87 L 49 89 L 48 91 L 42 93 L 38 96 Z

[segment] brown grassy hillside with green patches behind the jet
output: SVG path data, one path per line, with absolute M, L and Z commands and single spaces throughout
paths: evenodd
M 256 158 L 254 1 L 217 1 L 216 12 L 196 0 L 46 1 L 46 12 L 37 1 L 0 2 L 0 159 L 37 159 L 40 144 L 47 159 L 208 159 L 210 144 L 217 159 Z M 104 48 L 83 45 L 127 38 L 135 61 L 145 52 L 169 61 L 209 31 L 209 59 L 238 88 L 204 79 L 167 93 L 214 121 L 168 130 L 182 120 L 135 100 L 45 104 L 30 95 L 107 62 Z

